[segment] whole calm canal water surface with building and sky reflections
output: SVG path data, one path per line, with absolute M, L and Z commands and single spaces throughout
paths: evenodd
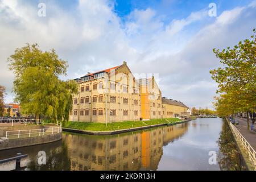
M 18 152 L 28 154 L 26 170 L 245 169 L 229 127 L 221 118 L 198 118 L 112 136 L 63 132 L 59 142 L 0 151 L 0 159 Z M 44 152 L 46 164 L 38 155 Z

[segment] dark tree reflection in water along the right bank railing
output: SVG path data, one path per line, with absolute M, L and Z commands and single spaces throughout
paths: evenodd
M 221 170 L 241 171 L 246 167 L 243 164 L 242 156 L 234 142 L 232 131 L 226 121 L 222 122 L 222 131 L 218 140 L 220 147 L 218 152 L 218 164 Z

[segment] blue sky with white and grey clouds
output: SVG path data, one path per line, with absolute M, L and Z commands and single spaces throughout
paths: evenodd
M 38 43 L 68 61 L 63 80 L 126 61 L 135 74 L 156 74 L 163 97 L 212 109 L 217 84 L 209 71 L 221 66 L 212 49 L 235 46 L 255 25 L 255 0 L 0 0 L 0 85 L 13 102 L 7 58 Z

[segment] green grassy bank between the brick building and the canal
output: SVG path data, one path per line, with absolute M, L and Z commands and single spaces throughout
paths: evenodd
M 106 126 L 105 123 L 69 121 L 64 123 L 63 127 L 67 127 L 71 129 L 87 130 L 87 131 L 114 131 L 114 130 L 130 129 L 133 127 L 158 125 L 162 123 L 174 123 L 174 122 L 180 122 L 180 121 L 181 120 L 178 118 L 151 119 L 150 121 L 113 122 L 113 123 L 108 123 L 108 126 Z

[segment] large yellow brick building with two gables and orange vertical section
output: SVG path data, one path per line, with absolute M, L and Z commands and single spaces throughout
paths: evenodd
M 162 93 L 152 78 L 136 80 L 125 61 L 75 79 L 79 93 L 73 96 L 69 121 L 137 121 L 178 116 L 180 110 L 167 114 L 172 103 L 162 104 Z M 180 107 L 174 105 L 172 108 Z M 186 112 L 187 106 L 182 112 Z M 175 115 L 176 114 L 176 115 Z

